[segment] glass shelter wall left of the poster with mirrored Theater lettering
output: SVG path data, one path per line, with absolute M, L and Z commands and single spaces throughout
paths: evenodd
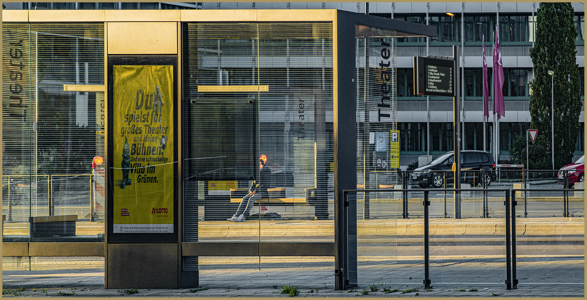
M 103 36 L 92 23 L 3 28 L 4 241 L 103 241 L 104 93 L 89 92 L 103 90 Z

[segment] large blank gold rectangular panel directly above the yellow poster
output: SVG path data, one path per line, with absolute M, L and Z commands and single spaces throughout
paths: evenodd
M 107 22 L 108 54 L 177 54 L 177 22 Z

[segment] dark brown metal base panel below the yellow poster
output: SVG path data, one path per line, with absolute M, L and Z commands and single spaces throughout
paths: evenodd
M 178 244 L 109 244 L 106 288 L 178 289 Z

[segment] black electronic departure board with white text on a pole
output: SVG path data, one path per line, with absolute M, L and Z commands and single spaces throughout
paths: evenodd
M 414 56 L 414 93 L 454 97 L 454 66 L 452 59 Z

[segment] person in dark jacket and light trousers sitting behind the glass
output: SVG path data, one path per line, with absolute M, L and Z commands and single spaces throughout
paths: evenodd
M 245 214 L 249 214 L 255 201 L 258 201 L 261 198 L 269 198 L 267 187 L 271 186 L 271 170 L 269 170 L 268 167 L 265 167 L 266 161 L 267 157 L 265 155 L 259 157 L 259 173 L 261 174 L 261 177 L 259 180 L 253 181 L 251 188 L 249 188 L 249 193 L 245 195 L 245 197 L 242 197 L 241 204 L 238 205 L 237 213 L 235 213 L 232 218 L 227 219 L 228 221 L 244 222 Z

